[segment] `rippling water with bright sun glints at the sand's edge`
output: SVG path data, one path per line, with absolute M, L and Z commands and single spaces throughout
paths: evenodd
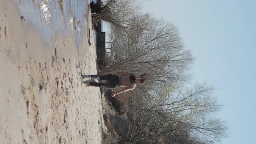
M 21 16 L 24 16 L 25 29 L 32 22 L 42 36 L 43 42 L 51 40 L 59 33 L 68 38 L 72 33 L 76 43 L 82 42 L 88 21 L 88 0 L 14 0 Z

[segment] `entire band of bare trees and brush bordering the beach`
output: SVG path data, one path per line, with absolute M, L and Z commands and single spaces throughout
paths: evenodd
M 193 63 L 179 31 L 164 20 L 138 12 L 130 0 L 106 0 L 93 19 L 109 23 L 111 55 L 98 73 L 147 72 L 147 83 L 111 98 L 105 90 L 105 123 L 115 142 L 135 144 L 213 144 L 227 136 L 216 118 L 221 105 L 214 88 L 191 83 Z M 113 107 L 113 108 L 111 108 Z M 105 142 L 106 142 L 105 141 Z M 108 143 L 108 142 L 106 142 Z

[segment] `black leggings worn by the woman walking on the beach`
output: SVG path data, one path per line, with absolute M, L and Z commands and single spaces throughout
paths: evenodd
M 90 82 L 91 86 L 95 87 L 104 87 L 104 88 L 117 88 L 119 87 L 119 77 L 117 75 L 91 75 L 91 78 L 99 77 L 98 80 L 108 81 L 106 83 L 103 82 Z

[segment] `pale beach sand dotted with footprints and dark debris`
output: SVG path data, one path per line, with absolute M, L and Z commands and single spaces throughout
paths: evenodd
M 100 90 L 84 88 L 80 75 L 97 73 L 92 33 L 90 41 L 77 47 L 57 34 L 48 46 L 32 23 L 24 29 L 12 0 L 1 0 L 1 144 L 102 143 Z

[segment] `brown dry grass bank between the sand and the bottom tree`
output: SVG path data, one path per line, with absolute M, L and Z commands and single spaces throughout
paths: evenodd
M 102 141 L 104 144 L 129 144 L 125 141 L 129 141 L 127 133 L 129 126 L 132 125 L 127 117 L 131 96 L 122 94 L 112 98 L 111 93 L 112 91 L 105 91 L 105 96 L 102 98 L 104 123 L 107 127 Z

